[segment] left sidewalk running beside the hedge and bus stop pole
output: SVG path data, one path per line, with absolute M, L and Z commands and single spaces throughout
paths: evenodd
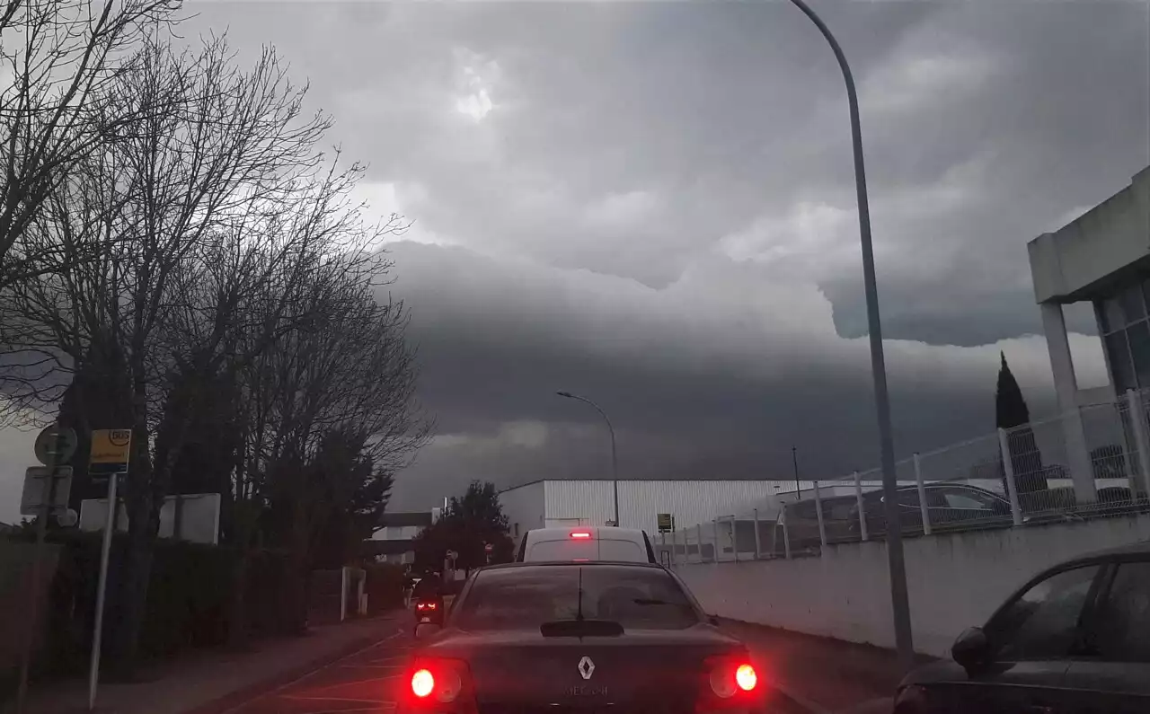
M 254 643 L 245 652 L 192 652 L 141 671 L 145 681 L 101 683 L 99 714 L 222 714 L 247 698 L 285 684 L 367 645 L 396 635 L 406 613 L 313 627 L 302 637 Z M 15 711 L 15 703 L 0 709 Z M 87 678 L 33 685 L 28 714 L 87 712 Z

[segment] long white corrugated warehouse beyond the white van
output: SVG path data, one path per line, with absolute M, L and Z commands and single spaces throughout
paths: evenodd
M 526 483 L 499 493 L 511 535 L 516 540 L 532 528 L 607 525 L 615 519 L 615 484 L 611 479 Z M 775 504 L 779 494 L 795 491 L 792 479 L 739 481 L 619 481 L 619 525 L 659 532 L 660 513 L 676 528 L 710 522 L 716 515 L 744 514 Z M 804 487 L 811 487 L 804 482 Z

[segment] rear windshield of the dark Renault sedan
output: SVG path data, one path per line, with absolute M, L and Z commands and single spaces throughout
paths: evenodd
M 580 613 L 624 629 L 680 630 L 699 622 L 690 597 L 667 571 L 627 566 L 538 566 L 480 573 L 457 605 L 465 630 L 538 629 Z

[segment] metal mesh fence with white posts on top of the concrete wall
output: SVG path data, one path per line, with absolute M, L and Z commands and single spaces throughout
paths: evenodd
M 1150 513 L 1148 407 L 1150 390 L 1132 390 L 1114 402 L 898 461 L 899 532 L 919 537 Z M 664 533 L 660 550 L 672 563 L 795 558 L 819 554 L 828 544 L 882 539 L 889 528 L 882 470 L 875 468 Z

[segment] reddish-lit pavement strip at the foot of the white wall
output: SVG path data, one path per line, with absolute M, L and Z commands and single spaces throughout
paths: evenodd
M 889 714 L 903 678 L 891 650 L 736 620 L 722 628 L 751 647 L 768 683 L 815 714 Z

